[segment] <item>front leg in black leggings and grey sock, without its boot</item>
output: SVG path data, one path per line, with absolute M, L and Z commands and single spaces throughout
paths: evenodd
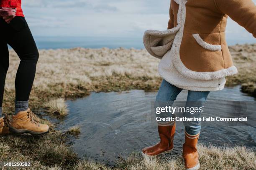
M 15 114 L 17 114 L 28 109 L 39 54 L 25 18 L 15 17 L 7 27 L 9 32 L 6 40 L 20 58 L 15 78 Z

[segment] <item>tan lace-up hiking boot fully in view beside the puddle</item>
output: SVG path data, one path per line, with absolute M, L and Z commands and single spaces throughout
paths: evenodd
M 18 112 L 17 115 L 13 115 L 13 119 L 10 123 L 10 132 L 41 135 L 49 132 L 49 126 L 40 124 L 36 115 L 28 108 L 26 111 L 21 111 Z

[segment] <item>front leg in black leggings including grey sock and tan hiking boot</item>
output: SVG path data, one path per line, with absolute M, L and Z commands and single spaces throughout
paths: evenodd
M 12 133 L 40 135 L 49 132 L 49 126 L 40 124 L 38 118 L 28 108 L 28 99 L 36 74 L 38 50 L 25 18 L 15 17 L 5 24 L 5 40 L 20 57 L 20 65 L 15 79 L 15 114 L 9 124 Z

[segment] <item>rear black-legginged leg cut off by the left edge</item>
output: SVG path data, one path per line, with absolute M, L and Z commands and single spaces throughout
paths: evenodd
M 3 19 L 0 18 L 0 27 Z M 9 67 L 9 51 L 7 42 L 0 38 L 0 117 L 2 117 L 3 94 L 5 89 L 5 78 Z

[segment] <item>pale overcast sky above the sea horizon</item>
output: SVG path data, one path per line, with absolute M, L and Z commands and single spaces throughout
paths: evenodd
M 33 35 L 141 37 L 147 29 L 166 29 L 170 1 L 22 0 L 22 3 Z M 227 36 L 255 41 L 232 20 L 228 20 Z

